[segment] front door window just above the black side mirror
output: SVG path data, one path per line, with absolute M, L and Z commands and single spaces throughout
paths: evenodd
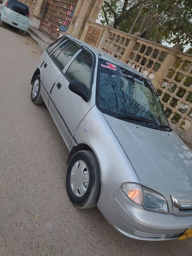
M 90 76 L 91 76 L 91 56 L 87 52 L 80 52 L 75 60 L 69 66 L 65 75 L 70 81 L 76 80 L 90 88 Z

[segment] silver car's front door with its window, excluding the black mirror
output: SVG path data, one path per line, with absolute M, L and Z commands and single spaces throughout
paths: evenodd
M 92 74 L 94 56 L 87 51 L 80 50 L 75 58 L 68 63 L 50 94 L 50 112 L 57 112 L 58 128 L 67 144 L 70 147 L 71 139 L 75 141 L 74 133 L 84 116 L 95 104 L 94 101 L 85 102 L 80 96 L 71 92 L 68 88 L 70 81 L 76 80 L 84 83 L 91 98 Z M 77 141 L 76 141 L 77 143 Z

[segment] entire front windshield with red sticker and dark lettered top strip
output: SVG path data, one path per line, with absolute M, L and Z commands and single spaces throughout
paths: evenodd
M 97 107 L 105 114 L 128 122 L 170 130 L 151 82 L 101 59 L 97 77 Z

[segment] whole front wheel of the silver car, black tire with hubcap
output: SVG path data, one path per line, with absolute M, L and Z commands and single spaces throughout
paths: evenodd
M 76 179 L 74 179 L 75 173 Z M 84 175 L 86 178 L 83 177 Z M 89 177 L 88 183 L 84 181 L 87 177 Z M 79 182 L 80 185 L 76 182 Z M 77 208 L 88 209 L 97 205 L 100 196 L 100 169 L 92 151 L 81 150 L 72 156 L 66 174 L 66 188 L 69 199 Z

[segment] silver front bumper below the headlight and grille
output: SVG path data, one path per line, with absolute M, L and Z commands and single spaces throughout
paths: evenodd
M 177 239 L 192 227 L 192 216 L 146 211 L 120 189 L 114 196 L 103 183 L 98 208 L 120 233 L 139 240 Z

